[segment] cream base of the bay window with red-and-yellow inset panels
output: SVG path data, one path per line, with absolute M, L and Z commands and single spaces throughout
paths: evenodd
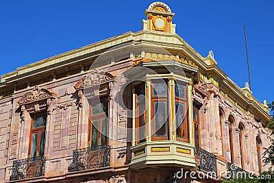
M 132 169 L 147 167 L 195 168 L 194 145 L 179 141 L 147 141 L 131 147 Z

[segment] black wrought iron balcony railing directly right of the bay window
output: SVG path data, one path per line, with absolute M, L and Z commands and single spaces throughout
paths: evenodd
M 214 176 L 217 175 L 217 160 L 214 154 L 197 147 L 195 158 L 197 162 L 197 169 L 200 171 L 209 172 Z

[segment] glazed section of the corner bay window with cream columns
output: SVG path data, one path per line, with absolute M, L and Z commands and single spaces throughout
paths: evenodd
M 136 144 L 145 141 L 149 127 L 151 134 L 148 135 L 151 135 L 152 141 L 170 140 L 170 136 L 174 135 L 173 139 L 188 142 L 187 84 L 174 80 L 155 79 L 147 82 L 147 86 L 145 82 L 141 82 L 134 88 Z M 148 111 L 149 109 L 151 112 Z M 149 114 L 150 120 L 147 119 Z M 146 123 L 150 126 L 146 127 Z

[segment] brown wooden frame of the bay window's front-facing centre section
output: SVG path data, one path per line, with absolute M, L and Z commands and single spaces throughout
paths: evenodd
M 167 141 L 170 139 L 169 132 L 170 132 L 170 127 L 169 127 L 169 84 L 167 83 L 166 80 L 164 80 L 166 84 L 166 95 L 153 95 L 153 84 L 158 83 L 157 79 L 152 80 L 151 82 L 151 140 L 152 141 Z M 155 109 L 154 109 L 154 102 L 157 101 L 166 101 L 166 136 L 155 136 L 155 121 L 154 121 L 154 114 L 155 114 Z

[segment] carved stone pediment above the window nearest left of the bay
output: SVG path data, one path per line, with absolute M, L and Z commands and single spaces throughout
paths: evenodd
M 94 69 L 90 73 L 86 75 L 86 77 L 82 78 L 75 85 L 76 90 L 80 90 L 83 88 L 88 88 L 91 86 L 98 86 L 102 84 L 106 84 L 108 82 L 112 82 L 115 79 L 113 75 L 108 72 L 99 72 L 97 69 Z

